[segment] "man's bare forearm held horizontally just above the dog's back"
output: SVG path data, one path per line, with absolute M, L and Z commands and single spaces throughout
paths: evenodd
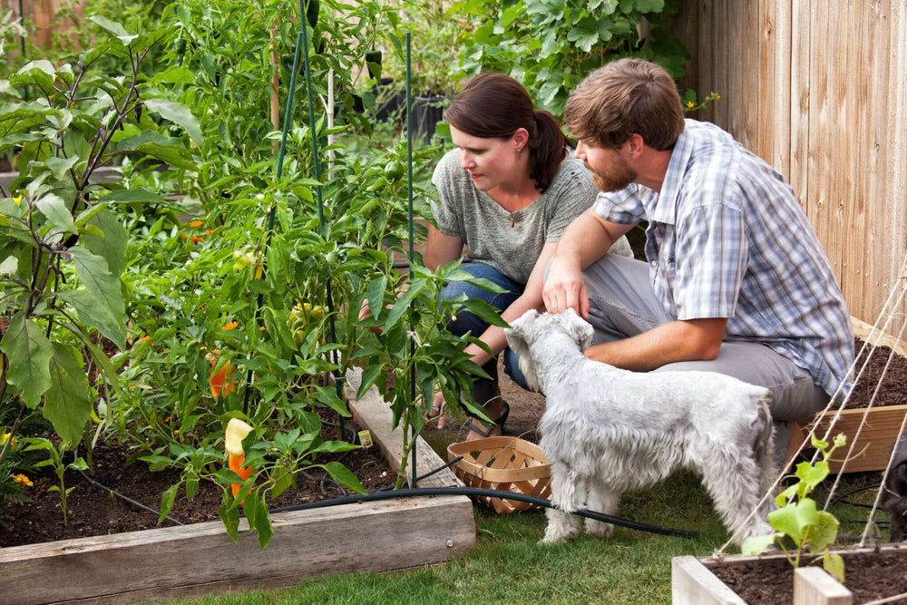
M 672 321 L 635 337 L 590 346 L 586 356 L 635 372 L 677 361 L 715 359 L 725 327 L 725 317 Z

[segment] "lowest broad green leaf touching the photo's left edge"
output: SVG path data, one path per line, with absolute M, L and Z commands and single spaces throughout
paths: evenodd
M 20 311 L 9 322 L 9 328 L 0 351 L 9 358 L 6 380 L 19 387 L 25 405 L 34 409 L 41 403 L 41 395 L 51 385 L 51 356 L 54 348 L 44 337 L 42 329 Z

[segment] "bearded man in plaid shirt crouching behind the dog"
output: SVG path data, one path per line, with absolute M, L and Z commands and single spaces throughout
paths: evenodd
M 655 63 L 622 59 L 592 73 L 564 122 L 601 192 L 561 237 L 548 310 L 589 319 L 592 359 L 768 387 L 782 464 L 786 421 L 822 409 L 853 362 L 841 290 L 793 190 L 727 132 L 684 120 Z M 643 220 L 648 263 L 604 256 Z

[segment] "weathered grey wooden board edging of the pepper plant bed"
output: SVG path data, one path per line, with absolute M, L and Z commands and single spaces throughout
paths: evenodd
M 358 382 L 352 382 L 347 393 L 355 394 Z M 370 391 L 366 399 L 370 415 L 380 420 L 383 412 L 389 426 L 390 408 L 376 403 L 380 395 Z M 368 417 L 361 416 L 360 422 Z M 381 424 L 364 425 L 375 443 L 390 451 L 393 444 L 384 442 L 393 442 L 394 435 Z M 442 466 L 444 461 L 420 441 L 420 470 Z M 394 459 L 390 461 L 393 466 Z M 447 471 L 420 485 L 457 483 Z M 0 549 L 0 603 L 149 602 L 280 588 L 317 574 L 393 571 L 448 561 L 475 544 L 473 504 L 466 496 L 278 512 L 271 521 L 275 535 L 264 551 L 245 520 L 236 544 L 217 521 Z

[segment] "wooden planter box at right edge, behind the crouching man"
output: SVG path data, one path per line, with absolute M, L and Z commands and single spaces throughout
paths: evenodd
M 863 341 L 871 344 L 883 345 L 892 348 L 893 351 L 901 356 L 907 357 L 907 345 L 894 337 L 878 334 L 870 338 L 872 326 L 853 317 L 853 335 Z M 892 454 L 892 447 L 898 440 L 901 432 L 901 424 L 904 415 L 907 415 L 907 402 L 905 405 L 886 405 L 884 407 L 873 407 L 869 411 L 869 417 L 860 433 L 860 438 L 856 440 L 853 446 L 853 459 L 847 463 L 844 469 L 845 473 L 857 473 L 860 471 L 883 471 L 888 466 L 889 457 Z M 854 435 L 863 422 L 864 409 L 845 409 L 838 417 L 834 424 L 833 434 L 844 433 L 847 435 L 847 448 L 854 443 Z M 820 436 L 825 434 L 834 412 L 828 418 L 823 418 L 817 424 L 816 434 Z M 841 457 L 846 452 L 840 452 Z M 838 453 L 836 453 L 838 454 Z M 835 457 L 839 457 L 835 455 Z M 841 470 L 841 464 L 832 463 L 832 473 Z

